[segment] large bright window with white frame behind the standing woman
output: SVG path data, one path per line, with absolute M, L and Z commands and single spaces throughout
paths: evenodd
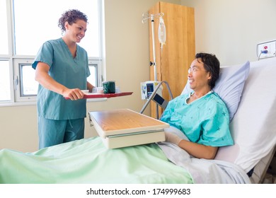
M 86 36 L 79 43 L 88 52 L 94 86 L 101 83 L 103 0 L 0 0 L 0 104 L 35 101 L 38 82 L 31 64 L 42 43 L 62 37 L 57 22 L 76 8 L 88 16 Z M 54 5 L 54 6 L 53 6 Z

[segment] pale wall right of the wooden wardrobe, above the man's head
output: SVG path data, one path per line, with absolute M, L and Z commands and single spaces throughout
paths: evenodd
M 195 8 L 195 50 L 222 65 L 256 61 L 256 45 L 276 40 L 275 0 L 182 0 Z

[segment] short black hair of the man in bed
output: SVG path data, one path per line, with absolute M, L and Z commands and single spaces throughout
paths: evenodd
M 197 53 L 195 54 L 196 59 L 200 59 L 204 64 L 204 68 L 212 76 L 209 80 L 209 86 L 214 88 L 217 79 L 219 78 L 219 59 L 214 54 Z

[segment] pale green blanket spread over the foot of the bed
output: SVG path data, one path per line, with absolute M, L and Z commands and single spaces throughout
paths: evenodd
M 34 153 L 0 150 L 0 183 L 192 183 L 156 144 L 105 148 L 99 137 Z

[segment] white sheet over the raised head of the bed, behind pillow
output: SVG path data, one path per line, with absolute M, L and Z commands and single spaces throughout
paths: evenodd
M 234 146 L 219 148 L 215 159 L 239 165 L 248 173 L 276 144 L 276 57 L 251 62 L 241 103 L 230 131 Z

